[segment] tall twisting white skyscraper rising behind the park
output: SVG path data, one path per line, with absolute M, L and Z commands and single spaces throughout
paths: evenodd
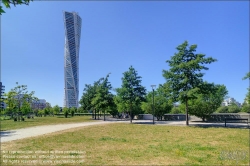
M 63 12 L 64 45 L 64 107 L 78 108 L 79 46 L 82 19 L 75 12 Z

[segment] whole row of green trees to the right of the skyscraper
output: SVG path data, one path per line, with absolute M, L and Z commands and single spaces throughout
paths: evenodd
M 95 118 L 100 111 L 107 111 L 113 116 L 126 112 L 130 115 L 131 122 L 134 115 L 152 114 L 153 110 L 157 119 L 161 119 L 165 113 L 185 112 L 187 125 L 189 114 L 205 120 L 214 112 L 239 112 L 240 108 L 236 108 L 235 104 L 221 107 L 228 94 L 225 85 L 203 80 L 202 71 L 209 69 L 206 65 L 217 60 L 206 57 L 205 54 L 196 54 L 197 45 L 189 46 L 187 41 L 176 49 L 177 53 L 166 61 L 169 70 L 163 70 L 166 82 L 159 84 L 154 93 L 146 92 L 146 88 L 141 85 L 142 77 L 130 66 L 123 73 L 120 88 L 112 88 L 108 82 L 109 75 L 93 85 L 86 84 L 79 102 L 82 109 L 93 111 Z M 244 79 L 249 79 L 249 73 Z M 112 94 L 111 90 L 116 94 Z M 246 98 L 248 102 L 243 104 L 242 110 L 249 112 L 249 89 Z M 180 104 L 178 108 L 174 107 L 176 102 Z

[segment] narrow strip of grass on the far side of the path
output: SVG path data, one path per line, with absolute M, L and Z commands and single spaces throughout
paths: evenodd
M 13 130 L 25 127 L 41 126 L 41 125 L 52 125 L 52 124 L 64 124 L 64 123 L 76 123 L 76 122 L 87 122 L 92 121 L 91 116 L 74 116 L 65 118 L 64 116 L 46 116 L 46 117 L 35 117 L 34 119 L 25 119 L 25 121 L 14 121 L 12 120 L 1 120 L 0 130 Z

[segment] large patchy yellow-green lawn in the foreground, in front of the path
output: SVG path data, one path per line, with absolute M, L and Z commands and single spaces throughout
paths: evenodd
M 2 143 L 1 149 L 84 151 L 83 165 L 249 165 L 249 130 L 116 123 Z

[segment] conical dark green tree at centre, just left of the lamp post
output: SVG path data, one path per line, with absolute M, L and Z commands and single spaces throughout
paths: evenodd
M 123 73 L 122 87 L 117 88 L 116 91 L 123 105 L 129 105 L 130 123 L 132 123 L 135 113 L 132 106 L 138 106 L 140 109 L 141 102 L 146 100 L 146 88 L 141 85 L 141 76 L 138 76 L 137 71 L 132 66 Z

